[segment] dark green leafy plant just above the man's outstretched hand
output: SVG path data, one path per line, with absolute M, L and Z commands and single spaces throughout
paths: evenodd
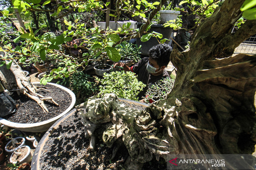
M 129 43 L 127 41 L 122 42 L 121 44 L 118 44 L 115 46 L 117 51 L 119 51 L 121 55 L 121 60 L 134 60 L 135 62 L 138 62 L 140 58 L 140 49 L 141 45 L 137 47 L 137 45 Z

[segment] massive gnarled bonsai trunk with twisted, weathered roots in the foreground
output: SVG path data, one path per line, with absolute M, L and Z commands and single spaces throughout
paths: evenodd
M 173 159 L 170 154 L 251 154 L 256 143 L 256 55 L 229 57 L 256 34 L 255 20 L 231 34 L 243 2 L 225 0 L 197 28 L 188 50 L 174 48 L 171 62 L 177 76 L 167 99 L 139 113 L 122 109 L 113 95 L 88 101 L 81 112 L 88 134 L 111 122 L 103 141 L 111 147 L 122 139 L 137 168 L 153 154 L 167 161 Z

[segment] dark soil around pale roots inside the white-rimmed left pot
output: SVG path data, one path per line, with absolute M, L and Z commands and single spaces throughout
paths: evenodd
M 49 112 L 45 113 L 31 98 L 25 95 L 19 96 L 16 92 L 10 92 L 9 95 L 17 103 L 17 109 L 15 113 L 3 117 L 4 119 L 15 123 L 37 123 L 58 116 L 71 104 L 71 96 L 65 90 L 50 84 L 46 84 L 45 86 L 42 84 L 35 84 L 35 86 L 46 87 L 50 90 L 46 91 L 40 89 L 38 90 L 38 94 L 45 97 L 52 97 L 59 106 L 56 106 L 52 101 L 46 100 L 44 103 Z

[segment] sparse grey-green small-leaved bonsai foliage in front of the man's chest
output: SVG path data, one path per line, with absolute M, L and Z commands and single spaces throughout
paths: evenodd
M 150 86 L 146 92 L 146 97 L 144 97 L 144 102 L 150 103 L 149 100 L 153 102 L 160 101 L 164 99 L 169 91 L 173 88 L 174 79 L 165 78 L 155 82 Z

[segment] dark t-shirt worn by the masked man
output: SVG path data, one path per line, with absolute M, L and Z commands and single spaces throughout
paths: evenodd
M 145 93 L 149 86 L 154 84 L 156 81 L 160 79 L 164 79 L 166 77 L 170 77 L 166 69 L 163 70 L 163 74 L 154 76 L 147 71 L 148 65 L 148 57 L 142 58 L 139 62 L 137 62 L 134 66 L 132 66 L 132 72 L 136 73 L 138 76 L 138 80 L 142 83 L 146 84 L 147 86 L 139 93 L 139 99 L 142 96 L 145 96 Z

